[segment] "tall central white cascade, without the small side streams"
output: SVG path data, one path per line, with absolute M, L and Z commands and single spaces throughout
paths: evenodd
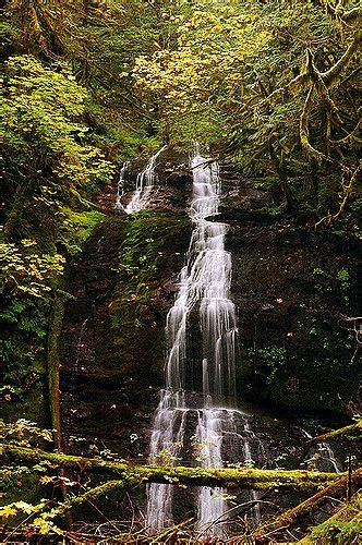
M 196 148 L 191 168 L 193 196 L 189 215 L 193 233 L 186 264 L 180 272 L 179 292 L 167 316 L 166 388 L 155 413 L 150 462 L 157 463 L 166 455 L 168 463 L 174 463 L 182 450 L 188 413 L 195 412 L 186 405 L 186 339 L 188 317 L 197 305 L 203 337 L 203 405 L 196 410 L 195 429 L 198 451 L 202 450 L 198 463 L 221 468 L 222 439 L 236 432 L 234 411 L 222 407 L 236 390 L 238 329 L 236 308 L 229 299 L 231 257 L 225 250 L 227 226 L 213 221 L 221 189 L 218 165 L 202 157 Z M 148 526 L 150 533 L 156 533 L 173 522 L 173 489 L 171 485 L 152 484 L 147 495 Z M 209 533 L 214 521 L 222 521 L 227 510 L 222 495 L 221 488 L 200 488 L 197 529 L 202 533 Z M 215 525 L 212 533 L 224 536 L 222 524 Z

